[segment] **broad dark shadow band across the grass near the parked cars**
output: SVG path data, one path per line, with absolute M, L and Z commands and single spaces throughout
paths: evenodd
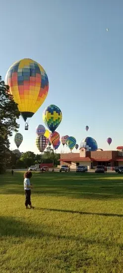
M 123 175 L 89 173 L 33 174 L 32 194 L 75 199 L 108 200 L 123 198 Z M 0 176 L 0 194 L 24 194 L 23 173 Z

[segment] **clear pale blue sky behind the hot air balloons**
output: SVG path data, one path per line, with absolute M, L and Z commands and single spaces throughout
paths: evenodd
M 44 124 L 50 104 L 62 110 L 61 136 L 74 136 L 78 144 L 92 136 L 103 149 L 123 145 L 123 0 L 1 0 L 0 8 L 2 79 L 12 63 L 30 58 L 43 66 L 50 84 L 29 131 L 19 119 L 20 151 L 39 153 L 35 128 Z

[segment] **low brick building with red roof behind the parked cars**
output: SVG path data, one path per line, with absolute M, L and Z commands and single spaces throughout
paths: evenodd
M 70 165 L 71 169 L 75 169 L 78 165 L 86 165 L 88 169 L 93 169 L 96 165 L 123 166 L 123 146 L 118 146 L 117 149 L 88 151 L 86 148 L 80 148 L 79 153 L 62 153 L 60 164 Z

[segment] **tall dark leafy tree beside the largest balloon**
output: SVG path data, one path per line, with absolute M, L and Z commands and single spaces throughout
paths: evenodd
M 12 136 L 12 131 L 17 132 L 19 125 L 16 123 L 16 119 L 19 116 L 17 103 L 9 94 L 9 86 L 4 84 L 0 76 L 0 173 L 6 169 L 6 155 L 10 145 L 8 137 Z

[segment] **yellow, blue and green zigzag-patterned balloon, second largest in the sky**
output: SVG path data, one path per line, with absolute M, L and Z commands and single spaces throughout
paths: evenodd
M 62 112 L 54 104 L 49 105 L 43 112 L 43 121 L 49 130 L 54 133 L 62 121 Z

